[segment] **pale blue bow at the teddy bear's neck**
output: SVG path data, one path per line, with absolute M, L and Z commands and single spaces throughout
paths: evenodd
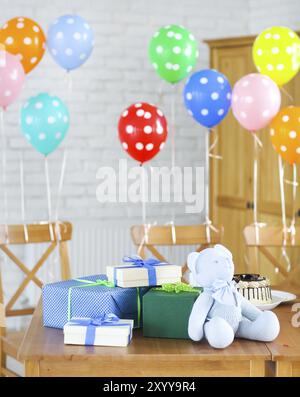
M 219 303 L 229 306 L 239 306 L 242 296 L 236 289 L 235 281 L 215 280 L 211 287 L 204 288 L 205 292 Z

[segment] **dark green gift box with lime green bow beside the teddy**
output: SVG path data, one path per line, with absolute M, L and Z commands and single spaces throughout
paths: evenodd
M 182 283 L 152 288 L 143 296 L 143 335 L 189 339 L 189 316 L 201 292 Z

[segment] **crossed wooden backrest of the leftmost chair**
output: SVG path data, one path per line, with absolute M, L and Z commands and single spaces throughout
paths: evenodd
M 0 225 L 0 249 L 24 273 L 24 279 L 17 287 L 15 293 L 5 304 L 5 316 L 23 316 L 32 314 L 33 307 L 14 309 L 14 305 L 23 294 L 27 285 L 32 281 L 39 288 L 43 282 L 38 278 L 37 272 L 46 262 L 50 254 L 59 246 L 61 278 L 68 279 L 70 264 L 67 242 L 72 238 L 72 225 L 69 222 L 30 224 L 30 225 Z M 30 269 L 9 248 L 10 245 L 49 243 L 48 247 Z M 0 273 L 0 302 L 4 299 L 4 284 Z

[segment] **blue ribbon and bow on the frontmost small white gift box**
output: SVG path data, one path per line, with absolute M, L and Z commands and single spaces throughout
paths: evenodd
M 87 327 L 85 334 L 85 345 L 87 346 L 94 345 L 97 327 L 129 326 L 130 333 L 128 341 L 131 338 L 131 324 L 121 323 L 119 317 L 113 313 L 103 314 L 97 318 L 74 318 L 71 320 L 70 325 Z

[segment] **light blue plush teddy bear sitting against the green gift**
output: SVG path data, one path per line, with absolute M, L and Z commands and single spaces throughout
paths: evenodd
M 234 337 L 270 342 L 280 331 L 277 316 L 261 311 L 246 300 L 232 281 L 234 264 L 231 252 L 223 245 L 192 252 L 187 259 L 190 282 L 203 287 L 189 318 L 189 337 L 205 337 L 217 349 L 229 346 Z

